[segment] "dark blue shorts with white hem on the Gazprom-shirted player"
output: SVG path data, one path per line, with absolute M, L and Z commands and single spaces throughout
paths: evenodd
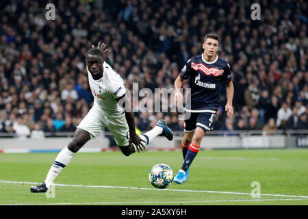
M 190 114 L 188 119 L 185 119 L 184 131 L 192 132 L 196 127 L 200 127 L 204 132 L 212 130 L 215 123 L 216 113 L 213 112 L 185 112 Z

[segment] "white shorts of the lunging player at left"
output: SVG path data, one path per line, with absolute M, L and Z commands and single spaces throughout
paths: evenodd
M 92 107 L 77 126 L 78 129 L 88 131 L 91 138 L 97 136 L 105 127 L 112 133 L 118 146 L 129 145 L 129 127 L 124 113 L 118 117 L 107 117 L 96 107 Z

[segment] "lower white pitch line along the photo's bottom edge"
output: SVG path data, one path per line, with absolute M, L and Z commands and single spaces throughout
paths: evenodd
M 200 201 L 134 201 L 134 202 L 94 202 L 94 203 L 21 203 L 21 204 L 1 204 L 1 205 L 113 205 L 113 204 L 167 204 L 167 203 L 227 203 L 227 202 L 249 202 L 249 201 L 300 201 L 305 198 L 269 198 L 269 199 L 235 199 L 235 200 L 200 200 Z

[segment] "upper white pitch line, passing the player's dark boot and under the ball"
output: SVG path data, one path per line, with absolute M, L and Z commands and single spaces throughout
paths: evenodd
M 21 181 L 0 181 L 0 183 L 13 183 L 13 184 L 40 184 L 38 182 L 21 182 Z M 129 190 L 155 190 L 155 191 L 168 191 L 168 192 L 206 192 L 206 193 L 217 193 L 217 194 L 243 194 L 251 195 L 251 193 L 246 192 L 221 192 L 221 191 L 209 191 L 209 190 L 172 190 L 164 189 L 159 190 L 155 188 L 138 188 L 138 187 L 127 187 L 127 186 L 112 186 L 112 185 L 68 185 L 68 184 L 58 184 L 57 186 L 66 186 L 66 187 L 83 187 L 83 188 L 114 188 L 114 189 L 129 189 Z M 258 195 L 258 194 L 255 194 Z M 289 198 L 308 198 L 308 196 L 296 196 L 288 194 L 259 194 L 260 196 L 279 196 L 279 197 L 289 197 Z

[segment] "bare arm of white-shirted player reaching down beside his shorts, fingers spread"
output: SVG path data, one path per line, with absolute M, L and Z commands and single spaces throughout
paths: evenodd
M 138 153 L 140 151 L 143 152 L 143 149 L 145 149 L 144 144 L 142 142 L 146 143 L 144 140 L 138 136 L 136 133 L 136 127 L 135 127 L 135 116 L 133 116 L 133 111 L 131 110 L 130 101 L 127 97 L 127 95 L 123 96 L 122 99 L 118 100 L 118 105 L 125 110 L 125 118 L 127 121 L 127 125 L 129 126 L 129 146 L 132 146 L 131 144 L 135 144 L 136 149 Z

